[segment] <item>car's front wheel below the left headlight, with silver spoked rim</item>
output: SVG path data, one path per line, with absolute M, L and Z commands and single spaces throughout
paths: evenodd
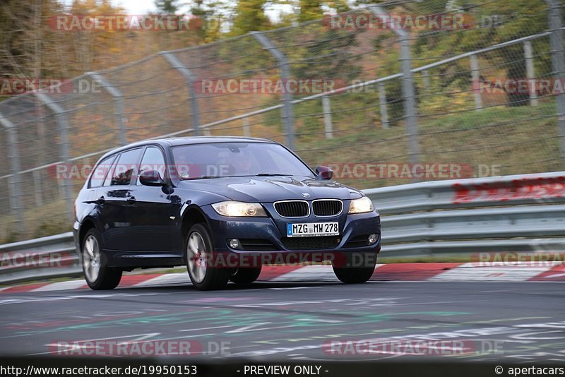
M 214 247 L 208 228 L 195 224 L 186 237 L 186 269 L 192 285 L 200 291 L 224 289 L 230 277 L 229 268 L 215 268 L 208 264 L 213 261 Z

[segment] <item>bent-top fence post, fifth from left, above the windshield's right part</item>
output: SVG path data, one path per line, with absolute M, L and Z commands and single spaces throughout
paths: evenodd
M 290 68 L 287 56 L 278 49 L 273 42 L 263 32 L 250 33 L 261 44 L 263 49 L 275 57 L 278 61 L 280 69 L 280 79 L 283 83 L 287 83 L 290 79 Z M 286 143 L 290 149 L 295 149 L 295 125 L 294 115 L 292 114 L 292 93 L 288 90 L 283 90 L 283 124 L 285 126 Z

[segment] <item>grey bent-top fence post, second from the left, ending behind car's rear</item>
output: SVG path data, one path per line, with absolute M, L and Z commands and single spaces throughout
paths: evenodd
M 49 107 L 55 114 L 55 119 L 57 120 L 57 128 L 59 131 L 59 154 L 61 161 L 65 164 L 69 163 L 70 145 L 69 145 L 69 122 L 66 119 L 65 110 L 59 106 L 56 102 L 53 102 L 49 96 L 35 92 L 35 97 L 37 97 L 45 106 Z M 63 200 L 66 205 L 66 216 L 67 220 L 72 221 L 72 214 L 74 213 L 73 205 L 73 191 L 71 186 L 71 177 L 67 176 L 63 179 L 61 184 L 63 190 Z

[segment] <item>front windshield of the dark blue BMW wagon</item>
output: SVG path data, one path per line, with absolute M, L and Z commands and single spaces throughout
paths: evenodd
M 307 176 L 311 170 L 286 150 L 272 143 L 209 143 L 172 148 L 180 179 L 218 176 Z

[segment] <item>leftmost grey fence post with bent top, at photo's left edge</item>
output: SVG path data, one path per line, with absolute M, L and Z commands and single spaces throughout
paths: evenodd
M 24 232 L 23 205 L 21 200 L 22 179 L 20 167 L 20 151 L 18 150 L 18 130 L 11 121 L 0 114 L 0 124 L 8 133 L 8 160 L 10 160 L 11 179 L 8 181 L 11 212 L 16 215 L 16 229 Z

